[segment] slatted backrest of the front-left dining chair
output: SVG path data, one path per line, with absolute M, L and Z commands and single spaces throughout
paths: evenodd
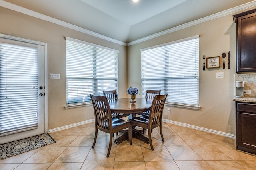
M 112 115 L 106 96 L 93 96 L 90 94 L 94 109 L 95 124 L 103 129 L 112 128 Z

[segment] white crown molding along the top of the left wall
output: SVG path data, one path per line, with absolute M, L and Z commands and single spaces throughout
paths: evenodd
M 49 22 L 55 23 L 57 25 L 61 25 L 61 26 L 64 26 L 64 27 L 67 27 L 67 28 L 70 28 L 70 29 L 73 29 L 73 30 L 76 30 L 76 31 L 79 31 L 79 32 L 82 32 L 82 33 L 86 33 L 88 35 L 92 35 L 94 37 L 98 37 L 98 38 L 101 38 L 101 39 L 104 39 L 104 40 L 107 40 L 107 41 L 110 41 L 110 42 L 113 42 L 113 43 L 116 43 L 116 44 L 127 46 L 127 43 L 124 43 L 122 41 L 118 41 L 116 39 L 112 39 L 110 37 L 101 35 L 99 33 L 95 33 L 95 32 L 90 31 L 88 29 L 84 29 L 84 28 L 78 27 L 76 25 L 73 25 L 73 24 L 70 24 L 70 23 L 58 20 L 56 18 L 52 18 L 50 16 L 46 16 L 46 15 L 41 14 L 39 12 L 35 12 L 33 10 L 29 10 L 27 8 L 23 8 L 21 6 L 12 4 L 10 2 L 6 2 L 4 0 L 0 0 L 0 6 L 2 6 L 4 8 L 8 8 L 10 10 L 14 10 L 16 12 L 20 12 L 20 13 L 32 16 L 32 17 L 39 18 L 41 20 L 49 21 Z

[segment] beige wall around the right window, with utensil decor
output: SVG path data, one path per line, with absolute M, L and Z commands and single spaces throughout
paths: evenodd
M 140 49 L 200 35 L 199 106 L 201 108 L 200 110 L 195 110 L 166 106 L 163 118 L 235 134 L 235 102 L 233 98 L 234 74 L 236 72 L 236 24 L 233 23 L 232 15 L 200 23 L 129 46 L 129 86 L 141 87 Z M 206 57 L 222 56 L 222 53 L 225 52 L 227 56 L 228 51 L 231 53 L 230 69 L 228 69 L 227 57 L 225 58 L 226 68 L 222 68 L 223 59 L 220 57 L 220 68 L 211 68 L 203 71 L 203 55 L 206 55 Z M 217 72 L 224 72 L 224 78 L 217 79 Z M 171 113 L 167 113 L 167 108 L 171 108 Z

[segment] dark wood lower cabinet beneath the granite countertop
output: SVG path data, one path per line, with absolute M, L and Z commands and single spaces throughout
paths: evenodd
M 256 103 L 236 102 L 236 149 L 256 154 Z

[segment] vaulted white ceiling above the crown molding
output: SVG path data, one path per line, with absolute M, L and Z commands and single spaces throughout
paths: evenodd
M 5 0 L 129 43 L 253 0 Z

